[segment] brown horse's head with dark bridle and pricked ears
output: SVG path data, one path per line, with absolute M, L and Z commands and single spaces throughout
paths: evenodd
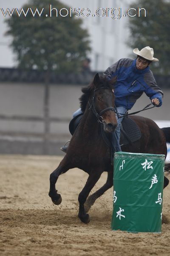
M 93 81 L 93 93 L 89 103 L 98 121 L 104 125 L 105 132 L 113 132 L 117 126 L 114 105 L 113 83 L 116 79 L 108 80 L 106 77 L 99 77 L 97 73 Z

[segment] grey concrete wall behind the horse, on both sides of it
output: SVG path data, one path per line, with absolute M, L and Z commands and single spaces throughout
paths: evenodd
M 81 87 L 77 85 L 50 86 L 50 117 L 60 120 L 51 122 L 50 125 L 50 154 L 61 154 L 60 146 L 70 139 L 68 125 L 72 114 L 79 108 L 81 94 Z M 43 97 L 43 84 L 0 83 L 0 153 L 42 153 L 44 131 L 42 121 L 11 120 L 2 117 L 43 117 Z M 159 124 L 164 124 L 164 121 L 170 122 L 169 101 L 170 90 L 164 89 L 162 107 L 141 112 L 139 115 L 159 121 Z M 129 113 L 141 110 L 149 103 L 150 99 L 143 95 Z

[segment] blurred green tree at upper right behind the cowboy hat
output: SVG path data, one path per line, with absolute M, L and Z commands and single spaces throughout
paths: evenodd
M 139 50 L 145 46 L 153 47 L 154 56 L 159 59 L 152 64 L 153 72 L 170 75 L 170 1 L 138 0 L 131 5 L 136 9 L 145 8 L 146 17 L 129 17 L 131 36 L 128 45 Z

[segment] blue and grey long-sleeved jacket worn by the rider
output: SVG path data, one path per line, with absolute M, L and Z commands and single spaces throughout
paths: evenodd
M 150 100 L 159 99 L 158 107 L 162 105 L 163 92 L 156 84 L 150 67 L 138 70 L 136 68 L 136 59 L 122 58 L 111 67 L 108 67 L 104 75 L 109 79 L 117 76 L 117 81 L 114 85 L 116 107 L 123 106 L 126 109 L 131 109 L 143 92 L 146 93 Z

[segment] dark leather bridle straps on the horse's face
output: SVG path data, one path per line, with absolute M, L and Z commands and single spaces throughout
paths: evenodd
M 102 111 L 100 111 L 99 113 L 97 113 L 96 108 L 95 108 L 94 99 L 95 99 L 95 93 L 96 93 L 96 91 L 97 91 L 97 90 L 101 90 L 101 89 L 107 89 L 107 90 L 108 90 L 108 88 L 105 88 L 105 87 L 100 87 L 100 88 L 95 89 L 95 90 L 94 90 L 93 97 L 92 97 L 92 100 L 91 100 L 91 104 L 90 104 L 90 102 L 88 102 L 88 104 L 90 105 L 89 110 L 92 110 L 92 112 L 94 113 L 94 115 L 95 115 L 96 118 L 97 118 L 97 121 L 103 123 L 103 122 L 105 122 L 104 119 L 103 119 L 103 117 L 102 117 L 102 114 L 103 114 L 103 113 L 105 113 L 106 111 L 109 111 L 109 110 L 114 111 L 115 113 L 117 113 L 117 111 L 116 111 L 116 108 L 109 107 L 109 108 L 105 108 L 105 109 L 103 109 Z

